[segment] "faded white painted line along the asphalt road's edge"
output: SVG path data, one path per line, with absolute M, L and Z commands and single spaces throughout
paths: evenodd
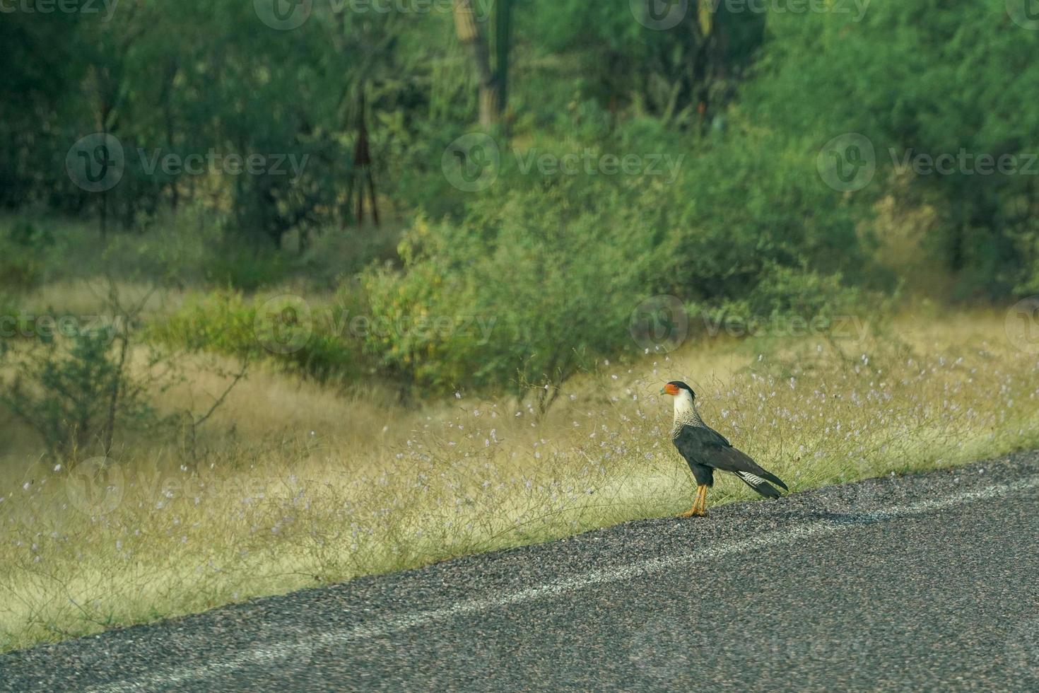
M 974 503 L 977 501 L 984 501 L 1010 494 L 1017 494 L 1023 490 L 1036 488 L 1037 486 L 1039 486 L 1039 477 L 1009 484 L 988 486 L 980 490 L 967 491 L 956 496 L 929 499 L 918 503 L 912 503 L 910 505 L 893 506 L 876 512 L 862 513 L 859 516 L 865 519 L 875 521 L 908 517 L 934 510 L 943 510 L 958 505 Z M 481 611 L 490 611 L 500 607 L 520 604 L 522 602 L 560 596 L 568 592 L 587 589 L 596 585 L 622 582 L 671 568 L 685 568 L 695 563 L 718 559 L 732 554 L 754 551 L 756 549 L 767 549 L 769 547 L 810 539 L 825 534 L 836 534 L 858 527 L 861 527 L 861 525 L 847 523 L 836 524 L 825 521 L 796 525 L 794 527 L 776 530 L 774 532 L 769 532 L 755 537 L 749 537 L 747 539 L 727 541 L 713 547 L 708 547 L 691 554 L 683 554 L 681 556 L 673 556 L 669 558 L 655 558 L 639 561 L 638 563 L 630 565 L 604 568 L 602 570 L 592 570 L 579 578 L 569 578 L 566 580 L 550 582 L 536 587 L 529 587 L 517 592 L 512 592 L 510 594 L 498 594 L 495 596 L 467 599 L 445 609 L 417 611 L 410 614 L 392 616 L 376 623 L 358 625 L 341 631 L 332 631 L 330 633 L 322 633 L 311 637 L 305 641 L 258 646 L 220 662 L 168 668 L 146 676 L 140 676 L 138 678 L 128 679 L 115 684 L 95 686 L 87 690 L 90 691 L 90 693 L 124 693 L 129 691 L 151 690 L 190 681 L 205 679 L 221 672 L 235 671 L 249 665 L 269 664 L 271 662 L 298 659 L 300 657 L 307 658 L 319 647 L 341 645 L 351 640 L 377 638 L 397 631 L 403 631 L 410 628 L 425 625 L 426 623 L 434 621 L 454 618 L 455 616 L 468 616 Z

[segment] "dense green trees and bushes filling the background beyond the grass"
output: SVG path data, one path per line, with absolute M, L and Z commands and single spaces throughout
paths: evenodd
M 875 223 L 880 205 L 934 218 L 920 252 L 951 297 L 1039 291 L 1039 111 L 1028 101 L 1039 31 L 1007 3 L 763 14 L 691 2 L 662 30 L 622 0 L 471 4 L 484 57 L 508 76 L 500 119 L 485 128 L 500 161 L 479 190 L 449 170 L 477 153 L 456 162 L 450 148 L 475 130 L 486 65 L 449 3 L 314 3 L 300 26 L 277 30 L 263 3 L 138 0 L 107 21 L 4 16 L 14 59 L 0 75 L 0 205 L 99 220 L 109 244 L 148 243 L 194 215 L 214 239 L 210 257 L 142 254 L 150 276 L 247 292 L 289 277 L 339 287 L 338 300 L 393 327 L 319 325 L 278 357 L 437 392 L 548 385 L 551 399 L 575 370 L 635 348 L 632 311 L 654 295 L 676 296 L 694 318 L 749 320 L 890 293 L 904 277 L 878 259 L 894 242 Z M 91 156 L 70 148 L 97 132 L 126 157 L 103 192 L 66 174 L 66 156 Z M 823 167 L 852 154 L 828 142 L 847 133 L 868 140 L 875 171 L 828 185 Z M 166 155 L 211 152 L 216 163 L 198 175 L 153 169 Z M 229 172 L 227 157 L 250 155 L 266 167 Z M 542 166 L 542 155 L 582 165 Z M 956 161 L 935 171 L 918 155 Z M 632 156 L 631 170 L 616 163 Z M 983 157 L 1013 165 L 985 174 Z M 295 248 L 283 247 L 289 238 Z M 352 260 L 314 254 L 342 238 L 358 249 Z M 19 248 L 0 261 L 4 286 L 30 288 L 47 238 L 3 242 Z M 250 300 L 199 299 L 156 334 L 262 352 Z

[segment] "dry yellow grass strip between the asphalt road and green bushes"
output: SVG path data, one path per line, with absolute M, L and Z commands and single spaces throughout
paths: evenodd
M 1004 316 L 915 315 L 861 341 L 719 339 L 603 364 L 543 418 L 508 401 L 344 399 L 259 370 L 207 424 L 197 469 L 141 441 L 92 486 L 8 452 L 0 647 L 685 509 L 688 470 L 657 395 L 674 378 L 794 491 L 1035 446 L 1039 367 Z M 191 380 L 195 397 L 222 388 Z M 747 498 L 722 478 L 710 500 Z

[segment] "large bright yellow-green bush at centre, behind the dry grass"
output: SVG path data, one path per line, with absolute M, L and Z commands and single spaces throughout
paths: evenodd
M 547 402 L 578 369 L 630 343 L 657 258 L 637 204 L 651 186 L 503 176 L 463 221 L 417 222 L 399 248 L 402 271 L 365 274 L 374 320 L 421 324 L 372 334 L 366 348 L 432 392 L 537 385 Z

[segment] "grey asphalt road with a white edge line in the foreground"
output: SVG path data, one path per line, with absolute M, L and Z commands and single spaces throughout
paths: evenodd
M 1039 454 L 0 657 L 0 690 L 1039 691 Z

